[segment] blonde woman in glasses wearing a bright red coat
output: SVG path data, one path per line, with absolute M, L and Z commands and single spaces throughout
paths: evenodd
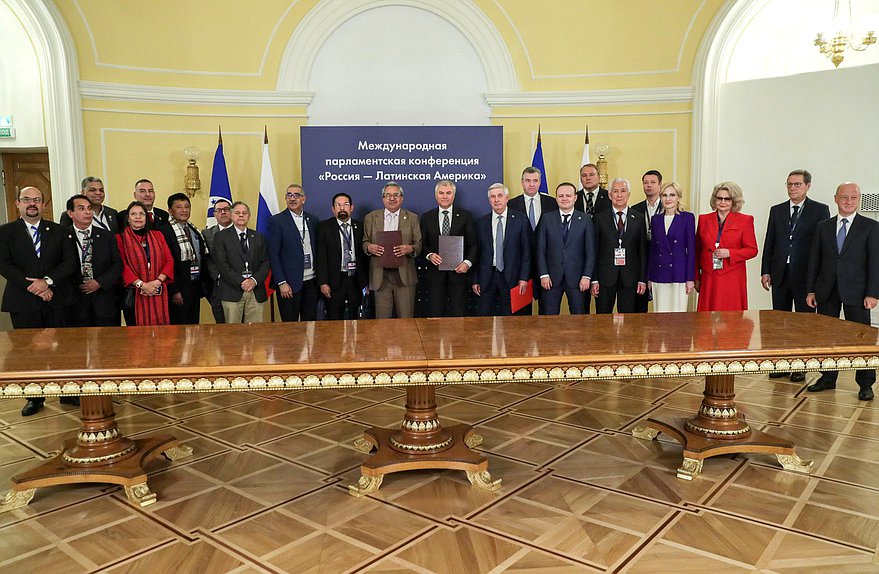
M 745 262 L 757 256 L 754 218 L 741 213 L 742 188 L 731 181 L 714 186 L 712 213 L 699 216 L 696 231 L 698 311 L 743 311 L 748 308 Z

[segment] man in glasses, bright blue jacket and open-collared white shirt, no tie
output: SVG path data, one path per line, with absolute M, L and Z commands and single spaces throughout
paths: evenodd
M 278 291 L 281 320 L 317 319 L 317 285 L 314 280 L 317 256 L 318 218 L 303 210 L 305 190 L 298 183 L 287 186 L 287 209 L 269 220 L 269 260 L 272 285 Z

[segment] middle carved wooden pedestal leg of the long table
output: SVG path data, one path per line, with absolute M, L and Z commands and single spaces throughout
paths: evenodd
M 488 459 L 471 450 L 480 444 L 482 437 L 468 425 L 443 428 L 436 413 L 435 386 L 407 387 L 400 428 L 373 427 L 355 441 L 360 452 L 375 448 L 375 453 L 360 466 L 360 479 L 348 486 L 348 493 L 364 496 L 379 489 L 384 475 L 417 469 L 463 470 L 474 486 L 495 491 L 501 480 L 492 480 Z

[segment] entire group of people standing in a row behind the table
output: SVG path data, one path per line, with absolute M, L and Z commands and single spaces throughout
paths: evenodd
M 509 198 L 503 183 L 487 190 L 490 212 L 480 218 L 455 205 L 456 185 L 436 183 L 437 206 L 420 217 L 404 209 L 403 187 L 387 182 L 382 209 L 355 219 L 347 193 L 332 198 L 332 217 L 305 211 L 301 185 L 285 192 L 286 209 L 272 216 L 267 236 L 248 227 L 243 201 L 218 200 L 217 224 L 199 230 L 190 222 L 186 194 L 154 205 L 152 182 L 141 179 L 134 201 L 117 212 L 104 205 L 95 177 L 67 201 L 61 222 L 42 218 L 42 192 L 18 192 L 20 218 L 0 226 L 0 274 L 7 280 L 2 311 L 13 327 L 195 324 L 201 299 L 218 323 L 264 318 L 268 288 L 277 291 L 282 321 L 311 321 L 322 306 L 327 319 L 358 316 L 372 292 L 376 318 L 413 317 L 423 255 L 426 314 L 557 315 L 563 297 L 571 314 L 686 311 L 693 290 L 699 311 L 747 309 L 745 264 L 758 252 L 754 218 L 741 212 L 734 182 L 714 187 L 713 211 L 697 218 L 682 209 L 679 184 L 663 184 L 649 170 L 645 199 L 629 206 L 622 178 L 599 185 L 598 168 L 580 169 L 581 187 L 538 193 L 542 174 L 522 172 L 522 194 Z M 763 248 L 762 284 L 773 309 L 794 309 L 870 324 L 879 297 L 879 223 L 857 214 L 860 189 L 841 184 L 838 216 L 807 197 L 811 175 L 792 171 L 788 201 L 770 211 Z M 269 280 L 269 277 L 271 278 Z M 523 302 L 523 299 L 525 302 Z M 785 376 L 773 375 L 773 376 Z M 790 373 L 793 381 L 804 373 Z M 859 398 L 873 398 L 875 371 L 857 373 Z M 823 373 L 809 391 L 835 388 Z M 70 400 L 70 399 L 66 399 Z M 28 401 L 36 413 L 43 399 Z

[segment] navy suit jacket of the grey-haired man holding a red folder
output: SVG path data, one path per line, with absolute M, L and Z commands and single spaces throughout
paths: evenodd
M 484 215 L 476 222 L 476 239 L 479 243 L 479 264 L 476 266 L 474 283 L 488 285 L 491 268 L 494 265 L 494 237 L 491 233 L 491 218 L 494 212 Z M 528 217 L 520 212 L 507 209 L 504 228 L 504 280 L 512 289 L 519 281 L 528 281 L 531 276 L 531 224 Z

